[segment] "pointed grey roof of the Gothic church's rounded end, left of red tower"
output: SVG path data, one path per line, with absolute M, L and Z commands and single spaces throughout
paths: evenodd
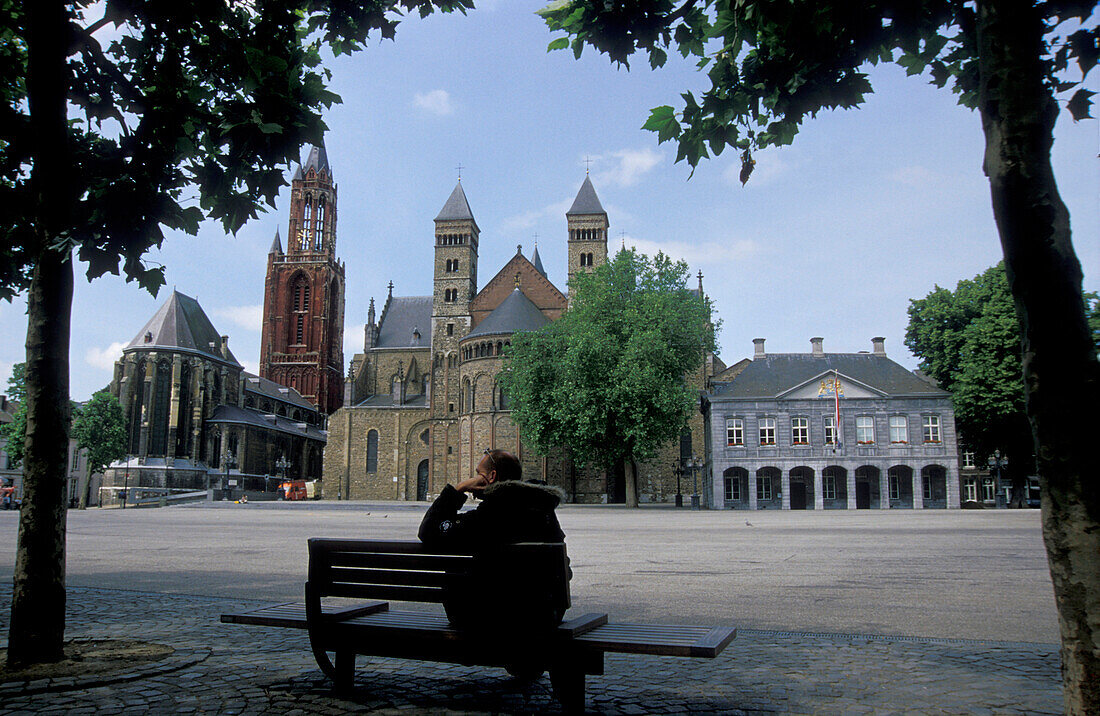
M 221 335 L 199 302 L 175 289 L 122 352 L 157 350 L 197 353 L 238 367 L 241 365 L 229 348 L 226 355 L 221 354 Z

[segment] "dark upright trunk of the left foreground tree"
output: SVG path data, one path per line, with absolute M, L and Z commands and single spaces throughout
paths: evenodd
M 10 665 L 57 661 L 65 640 L 65 474 L 68 463 L 73 264 L 65 249 L 70 197 L 66 122 L 68 18 L 61 2 L 28 3 L 28 103 L 36 262 L 26 310 L 23 506 L 8 640 Z

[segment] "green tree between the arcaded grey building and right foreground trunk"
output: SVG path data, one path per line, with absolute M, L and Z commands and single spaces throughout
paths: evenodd
M 1034 470 L 1016 321 L 1003 263 L 955 291 L 936 286 L 910 301 L 905 345 L 950 390 L 963 442 L 981 459 L 1009 456 L 1012 506 L 1023 507 Z

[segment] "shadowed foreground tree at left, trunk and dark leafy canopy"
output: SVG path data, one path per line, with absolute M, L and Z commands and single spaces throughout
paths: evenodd
M 68 339 L 74 261 L 143 263 L 164 230 L 235 232 L 319 143 L 324 44 L 394 36 L 403 11 L 472 0 L 172 3 L 0 0 L 0 297 L 28 293 L 24 493 L 10 664 L 64 656 Z M 89 16 L 90 14 L 95 16 Z M 194 197 L 194 198 L 190 198 Z

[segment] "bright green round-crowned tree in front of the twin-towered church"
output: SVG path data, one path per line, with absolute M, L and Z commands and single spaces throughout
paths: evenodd
M 502 384 L 524 440 L 568 448 L 580 466 L 623 469 L 638 506 L 636 464 L 679 438 L 698 396 L 685 381 L 714 348 L 711 306 L 688 290 L 688 264 L 623 250 L 570 285 L 569 310 L 518 333 Z

